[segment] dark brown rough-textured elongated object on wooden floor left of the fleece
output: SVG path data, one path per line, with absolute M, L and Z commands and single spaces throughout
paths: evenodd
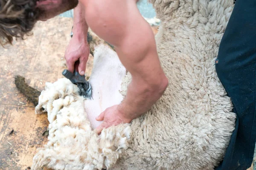
M 41 92 L 35 88 L 30 87 L 26 82 L 25 78 L 21 76 L 15 77 L 15 85 L 17 89 L 30 101 L 34 106 L 38 105 L 38 97 Z

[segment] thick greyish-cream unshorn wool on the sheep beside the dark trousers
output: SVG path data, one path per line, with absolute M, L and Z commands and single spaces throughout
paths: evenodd
M 115 170 L 213 170 L 236 116 L 215 72 L 233 0 L 150 0 L 161 20 L 157 50 L 169 86 L 131 123 L 131 142 Z M 126 93 L 131 76 L 123 80 Z

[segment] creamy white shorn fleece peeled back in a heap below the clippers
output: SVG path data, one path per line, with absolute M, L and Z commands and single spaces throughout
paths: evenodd
M 95 170 L 115 164 L 130 139 L 128 124 L 108 128 L 98 136 L 84 112 L 84 99 L 70 80 L 47 83 L 36 113 L 47 111 L 49 142 L 33 158 L 33 170 Z

